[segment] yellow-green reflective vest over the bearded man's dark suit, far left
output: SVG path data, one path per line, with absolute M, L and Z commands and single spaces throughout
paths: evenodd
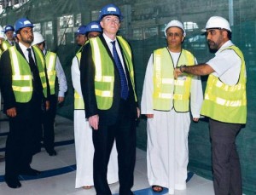
M 38 72 L 44 89 L 44 96 L 47 95 L 46 77 L 44 74 L 44 56 L 38 48 L 33 47 L 37 60 Z M 9 48 L 12 66 L 12 89 L 15 93 L 15 100 L 26 103 L 32 98 L 32 73 L 27 60 L 17 51 L 16 47 Z

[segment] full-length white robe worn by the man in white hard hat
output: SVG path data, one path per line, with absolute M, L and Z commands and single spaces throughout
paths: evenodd
M 177 65 L 178 56 L 172 56 Z M 186 189 L 187 165 L 189 163 L 188 135 L 190 125 L 189 112 L 155 111 L 153 109 L 153 55 L 148 60 L 143 85 L 142 114 L 154 114 L 147 121 L 147 166 L 150 186 L 159 185 L 174 190 Z M 184 79 L 180 77 L 179 79 Z M 193 118 L 200 118 L 203 100 L 201 79 L 191 81 L 190 109 Z

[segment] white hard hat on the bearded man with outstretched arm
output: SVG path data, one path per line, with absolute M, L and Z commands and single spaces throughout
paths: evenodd
M 211 28 L 220 28 L 220 29 L 225 29 L 231 32 L 229 21 L 225 20 L 223 17 L 220 17 L 220 16 L 212 16 L 207 21 L 206 27 L 202 29 L 201 32 L 207 32 L 207 29 L 211 29 Z

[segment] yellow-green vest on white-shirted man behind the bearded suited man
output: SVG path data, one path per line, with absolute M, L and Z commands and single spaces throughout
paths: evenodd
M 45 55 L 45 63 L 46 63 L 46 69 L 47 69 L 47 77 L 49 80 L 50 95 L 55 95 L 56 58 L 57 58 L 57 54 L 47 51 Z

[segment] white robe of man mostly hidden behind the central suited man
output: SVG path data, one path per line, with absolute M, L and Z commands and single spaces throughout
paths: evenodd
M 73 58 L 71 66 L 73 88 L 79 95 L 82 95 L 80 84 L 79 61 L 77 57 Z M 84 110 L 74 110 L 73 116 L 75 151 L 76 151 L 76 182 L 75 188 L 81 186 L 94 186 L 93 182 L 93 156 L 94 146 L 92 142 L 92 129 L 85 119 Z M 108 183 L 112 184 L 119 181 L 118 176 L 118 160 L 115 142 L 110 154 L 108 163 Z

